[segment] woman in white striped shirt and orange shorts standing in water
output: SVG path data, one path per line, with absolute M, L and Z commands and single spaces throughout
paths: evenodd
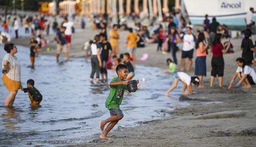
M 3 84 L 6 86 L 9 94 L 6 96 L 4 106 L 10 107 L 15 101 L 15 96 L 19 89 L 23 90 L 20 80 L 20 62 L 15 54 L 18 52 L 17 47 L 13 43 L 6 44 L 2 61 Z

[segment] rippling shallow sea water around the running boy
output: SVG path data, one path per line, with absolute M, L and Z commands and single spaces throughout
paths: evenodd
M 2 62 L 6 53 L 3 45 L 0 48 Z M 43 100 L 41 107 L 30 107 L 27 93 L 19 90 L 14 108 L 0 107 L 0 145 L 24 146 L 28 142 L 47 146 L 84 143 L 90 135 L 100 133 L 99 120 L 110 116 L 105 108 L 109 86 L 108 83 L 92 85 L 89 82 L 90 62 L 72 59 L 58 65 L 55 57 L 39 55 L 32 70 L 28 68 L 29 48 L 19 45 L 17 48 L 23 87 L 26 87 L 27 79 L 34 79 Z M 63 57 L 61 59 L 64 60 Z M 168 115 L 159 110 L 189 105 L 178 101 L 182 88 L 180 84 L 170 93 L 172 96 L 164 96 L 172 84 L 172 75 L 158 74 L 157 71 L 160 69 L 136 66 L 134 79 L 140 80 L 142 89 L 136 93 L 125 93 L 120 106 L 124 118 L 117 126 L 132 127 L 138 125 L 136 122 L 139 121 L 162 119 Z M 114 71 L 108 73 L 110 79 L 116 76 Z M 142 82 L 142 78 L 145 78 L 145 82 Z M 0 80 L 0 105 L 3 105 L 7 93 Z

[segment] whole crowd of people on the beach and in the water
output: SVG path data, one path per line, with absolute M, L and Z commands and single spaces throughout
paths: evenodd
M 253 9 L 252 9 L 253 11 Z M 117 77 L 113 78 L 110 82 L 110 95 L 106 101 L 106 107 L 110 110 L 111 117 L 105 121 L 100 122 L 100 128 L 103 131 L 101 138 L 109 139 L 107 137 L 108 132 L 114 127 L 114 125 L 122 119 L 122 110 L 119 109 L 119 105 L 122 102 L 122 96 L 124 90 L 127 89 L 128 82 L 135 76 L 136 66 L 136 50 L 137 48 L 145 47 L 150 43 L 157 43 L 156 51 L 161 51 L 162 54 L 170 53 L 172 58 L 166 60 L 168 69 L 161 73 L 173 73 L 174 81 L 172 87 L 166 91 L 165 95 L 169 96 L 169 93 L 177 87 L 178 81 L 181 81 L 184 85 L 182 94 L 192 94 L 193 85 L 197 88 L 204 88 L 203 77 L 207 76 L 207 56 L 212 54 L 211 60 L 211 78 L 210 87 L 213 87 L 215 77 L 218 76 L 219 87 L 222 88 L 223 76 L 224 76 L 224 54 L 233 53 L 233 45 L 230 41 L 230 32 L 226 25 L 218 23 L 215 17 L 212 18 L 212 22 L 208 19 L 208 15 L 205 15 L 203 22 L 203 29 L 196 31 L 194 26 L 186 24 L 179 18 L 179 13 L 171 12 L 163 17 L 161 23 L 156 23 L 153 26 L 153 32 L 148 30 L 147 25 L 141 25 L 140 22 L 134 21 L 134 28 L 128 27 L 125 20 L 119 20 L 119 23 L 108 23 L 108 18 L 103 15 L 94 17 L 94 27 L 98 34 L 96 34 L 90 40 L 84 42 L 82 50 L 85 51 L 85 58 L 87 60 L 90 57 L 91 73 L 90 82 L 93 83 L 94 75 L 96 74 L 96 83 L 108 82 L 108 69 L 115 70 Z M 30 60 L 31 68 L 34 68 L 35 57 L 38 51 L 41 51 L 46 45 L 43 31 L 49 35 L 50 23 L 44 17 L 38 18 L 38 15 L 34 17 L 29 16 L 26 18 L 23 24 L 25 33 L 29 33 L 31 28 L 32 37 L 29 38 L 30 45 Z M 56 61 L 59 63 L 59 56 L 61 51 L 64 52 L 66 60 L 70 59 L 68 51 L 71 48 L 71 38 L 73 33 L 72 21 L 69 21 L 67 17 L 64 17 L 63 23 L 58 25 L 55 19 L 52 23 L 52 30 L 56 33 L 55 41 L 56 47 Z M 251 25 L 251 23 L 249 24 Z M 3 58 L 3 83 L 9 90 L 9 95 L 6 96 L 5 106 L 12 106 L 15 101 L 17 90 L 21 89 L 24 92 L 29 93 L 29 98 L 32 105 L 39 105 L 42 100 L 41 93 L 34 87 L 35 81 L 29 79 L 27 81 L 27 87 L 23 88 L 20 80 L 20 63 L 15 56 L 17 53 L 17 47 L 10 42 L 8 37 L 9 27 L 7 20 L 2 24 L 4 32 L 1 32 L 1 43 L 5 43 L 4 50 L 6 55 Z M 110 27 L 109 27 L 110 26 Z M 13 27 L 15 30 L 15 37 L 18 38 L 19 22 L 17 18 L 13 20 Z M 81 20 L 81 28 L 85 27 L 85 22 Z M 111 28 L 108 31 L 108 28 Z M 120 30 L 127 30 L 128 34 L 123 37 L 126 41 L 127 51 L 125 53 L 119 52 L 119 35 Z M 229 88 L 232 87 L 234 79 L 239 77 L 239 82 L 236 84 L 239 87 L 244 84 L 244 88 L 251 88 L 251 85 L 256 84 L 256 72 L 252 68 L 252 64 L 256 63 L 256 49 L 253 45 L 253 41 L 250 39 L 252 31 L 250 28 L 245 29 L 244 39 L 241 42 L 241 57 L 236 59 L 238 68 L 234 73 L 234 76 L 230 82 Z M 108 41 L 109 40 L 109 41 Z M 177 51 L 181 48 L 181 63 L 180 71 L 178 71 L 178 59 L 176 56 Z M 185 72 L 190 72 L 193 64 L 193 54 L 196 52 L 195 59 L 195 75 L 189 76 Z M 119 56 L 118 56 L 119 55 Z M 186 68 L 186 59 L 188 59 L 188 65 Z M 101 80 L 100 80 L 101 76 Z M 138 83 L 138 82 L 137 82 Z M 187 90 L 187 93 L 186 93 Z M 120 99 L 116 99 L 119 97 Z M 115 105 L 113 105 L 115 103 Z M 110 122 L 108 127 L 104 130 L 105 124 Z

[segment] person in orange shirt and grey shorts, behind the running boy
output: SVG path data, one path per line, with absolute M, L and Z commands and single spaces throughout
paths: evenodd
M 137 47 L 137 42 L 139 41 L 139 37 L 137 37 L 137 34 L 133 33 L 132 28 L 128 28 L 129 34 L 126 36 L 127 40 L 127 51 L 130 54 L 130 57 L 132 59 L 133 65 L 136 63 L 136 47 Z

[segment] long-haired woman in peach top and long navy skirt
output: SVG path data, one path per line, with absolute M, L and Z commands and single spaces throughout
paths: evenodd
M 198 40 L 195 43 L 196 59 L 195 59 L 195 75 L 200 79 L 198 88 L 204 88 L 202 85 L 203 77 L 206 76 L 206 56 L 209 45 L 205 43 L 204 33 L 198 35 Z

